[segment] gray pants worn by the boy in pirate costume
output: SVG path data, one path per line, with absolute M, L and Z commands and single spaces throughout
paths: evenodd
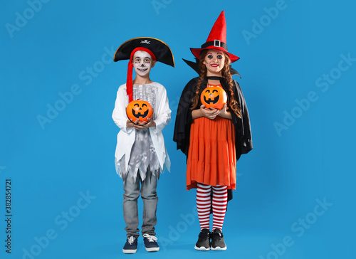
M 140 189 L 141 184 L 141 189 Z M 145 181 L 141 180 L 140 174 L 137 174 L 136 181 L 133 177 L 127 177 L 124 182 L 124 201 L 122 201 L 122 208 L 124 211 L 124 219 L 126 223 L 126 236 L 140 236 L 138 227 L 138 211 L 137 199 L 141 194 L 143 201 L 143 223 L 142 235 L 149 234 L 155 236 L 155 226 L 157 223 L 157 176 L 150 178 L 150 173 L 147 170 Z

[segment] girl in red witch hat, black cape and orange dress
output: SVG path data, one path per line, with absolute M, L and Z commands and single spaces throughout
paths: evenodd
M 236 189 L 236 161 L 252 149 L 251 129 L 244 95 L 231 78 L 230 63 L 239 57 L 227 52 L 224 11 L 206 43 L 191 48 L 199 60 L 199 78 L 184 88 L 179 101 L 174 141 L 187 155 L 187 190 L 197 188 L 201 232 L 197 250 L 226 250 L 222 226 L 228 196 Z M 223 109 L 207 109 L 200 102 L 205 88 L 223 88 L 228 101 Z M 229 190 L 229 191 L 228 191 Z M 229 192 L 229 195 L 228 195 Z M 212 232 L 209 216 L 213 213 Z

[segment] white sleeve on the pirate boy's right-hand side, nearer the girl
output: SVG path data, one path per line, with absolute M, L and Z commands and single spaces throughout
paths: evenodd
M 169 109 L 169 102 L 167 97 L 167 90 L 162 86 L 162 90 L 159 90 L 159 96 L 157 100 L 159 103 L 157 105 L 157 117 L 155 120 L 156 127 L 152 129 L 154 133 L 158 133 L 166 127 L 166 125 L 171 120 L 171 109 Z

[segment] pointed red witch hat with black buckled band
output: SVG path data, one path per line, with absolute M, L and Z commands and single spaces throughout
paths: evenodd
M 221 11 L 221 14 L 217 18 L 214 23 L 213 28 L 211 28 L 209 37 L 206 40 L 206 43 L 201 45 L 201 48 L 190 48 L 193 55 L 200 59 L 201 51 L 205 49 L 214 49 L 217 51 L 222 51 L 229 55 L 231 63 L 235 62 L 239 59 L 238 56 L 235 56 L 227 51 L 226 45 L 226 20 L 225 20 L 225 12 Z

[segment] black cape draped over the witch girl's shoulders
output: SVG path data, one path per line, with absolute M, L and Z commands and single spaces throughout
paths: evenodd
M 190 105 L 192 103 L 192 98 L 194 97 L 197 89 L 197 82 L 199 78 L 193 78 L 185 86 L 182 95 L 179 100 L 176 122 L 174 125 L 173 141 L 177 142 L 177 149 L 181 149 L 184 154 L 188 157 L 189 150 L 189 137 L 190 137 L 190 126 L 193 122 L 192 110 Z M 239 160 L 241 154 L 247 154 L 252 148 L 252 137 L 251 137 L 251 126 L 250 118 L 248 116 L 248 110 L 246 106 L 246 101 L 244 94 L 242 93 L 239 83 L 234 81 L 234 96 L 235 100 L 239 102 L 241 107 L 241 118 L 237 117 L 234 112 L 231 112 L 232 123 L 235 127 L 235 147 L 236 147 L 236 161 Z M 228 90 L 223 78 L 220 80 L 221 86 L 224 88 L 226 94 L 228 95 L 228 107 L 231 93 Z M 207 81 L 201 84 L 199 90 L 199 95 L 206 88 Z M 200 98 L 196 109 L 201 106 Z M 228 190 L 228 200 L 232 199 L 232 191 Z

